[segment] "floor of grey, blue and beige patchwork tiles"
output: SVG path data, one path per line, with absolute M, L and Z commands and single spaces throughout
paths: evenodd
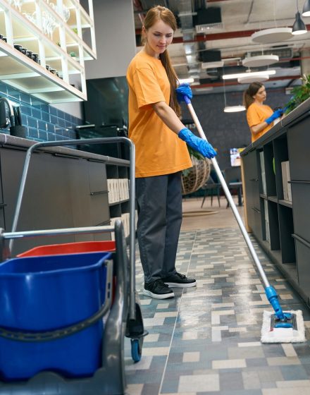
M 194 205 L 185 202 L 185 211 Z M 195 277 L 197 287 L 175 290 L 168 300 L 140 294 L 149 335 L 139 363 L 125 341 L 128 395 L 310 394 L 309 341 L 261 344 L 263 310 L 272 309 L 237 223 L 222 206 L 213 207 L 219 212 L 207 216 L 204 227 L 183 221 L 177 269 Z M 228 226 L 216 227 L 223 218 Z M 310 310 L 252 241 L 283 310 L 302 310 L 309 332 Z M 140 291 L 138 254 L 136 270 Z

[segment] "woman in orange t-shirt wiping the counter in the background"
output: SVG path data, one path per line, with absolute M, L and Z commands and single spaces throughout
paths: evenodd
M 273 121 L 283 115 L 283 109 L 273 112 L 263 102 L 266 89 L 261 83 L 252 83 L 243 94 L 244 107 L 247 109 L 247 123 L 252 134 L 252 142 L 260 138 L 273 126 Z

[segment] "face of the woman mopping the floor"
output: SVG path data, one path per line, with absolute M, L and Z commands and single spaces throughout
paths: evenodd
M 159 58 L 173 40 L 173 29 L 162 20 L 158 20 L 148 30 L 143 27 L 143 32 L 147 38 L 148 52 L 155 58 Z

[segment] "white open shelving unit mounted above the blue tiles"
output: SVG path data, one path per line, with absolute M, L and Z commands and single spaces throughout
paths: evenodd
M 86 100 L 85 61 L 97 57 L 92 0 L 87 8 L 79 0 L 0 0 L 0 80 L 48 103 Z

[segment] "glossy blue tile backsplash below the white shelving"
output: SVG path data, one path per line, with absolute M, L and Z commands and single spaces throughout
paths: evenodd
M 0 97 L 7 97 L 20 106 L 27 138 L 35 141 L 75 139 L 75 126 L 84 121 L 39 99 L 20 92 L 0 82 Z M 0 128 L 0 133 L 10 134 L 10 128 Z

